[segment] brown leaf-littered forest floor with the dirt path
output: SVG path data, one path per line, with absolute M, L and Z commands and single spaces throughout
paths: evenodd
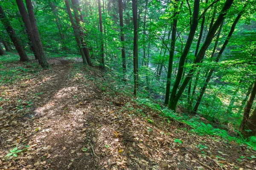
M 131 96 L 99 88 L 110 80 L 97 68 L 48 61 L 50 69 L 0 63 L 22 75 L 0 89 L 1 170 L 256 169 L 246 146 L 189 133 Z M 17 157 L 6 157 L 15 147 Z

